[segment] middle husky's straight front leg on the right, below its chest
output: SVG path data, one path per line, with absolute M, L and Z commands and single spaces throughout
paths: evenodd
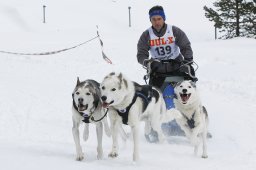
M 136 162 L 139 160 L 139 123 L 131 128 L 133 134 L 133 161 Z

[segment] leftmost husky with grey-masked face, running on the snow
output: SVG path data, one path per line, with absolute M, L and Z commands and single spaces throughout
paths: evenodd
M 76 145 L 76 160 L 81 161 L 84 158 L 79 138 L 79 125 L 85 123 L 83 138 L 86 141 L 89 137 L 89 123 L 96 125 L 96 133 L 98 139 L 97 158 L 103 158 L 102 135 L 103 124 L 105 133 L 110 137 L 111 132 L 106 119 L 106 111 L 102 107 L 100 100 L 99 83 L 94 80 L 86 80 L 80 82 L 77 78 L 76 87 L 72 93 L 73 97 L 73 137 Z

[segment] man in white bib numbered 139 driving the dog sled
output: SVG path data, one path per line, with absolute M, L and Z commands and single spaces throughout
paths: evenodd
M 197 81 L 197 78 L 189 76 L 188 67 L 184 67 L 184 64 L 188 64 L 191 74 L 195 75 L 191 66 L 193 51 L 186 34 L 178 27 L 165 23 L 165 13 L 161 6 L 149 10 L 149 19 L 152 26 L 142 33 L 137 45 L 140 64 L 147 66 L 145 59 L 149 58 L 149 51 L 153 59 L 160 60 L 151 63 L 149 84 L 160 88 L 165 80 L 161 76 L 163 74 Z

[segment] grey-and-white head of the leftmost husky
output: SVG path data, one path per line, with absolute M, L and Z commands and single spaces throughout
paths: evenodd
M 82 113 L 84 117 L 89 117 L 100 102 L 99 84 L 93 80 L 80 82 L 77 78 L 72 97 L 75 109 Z

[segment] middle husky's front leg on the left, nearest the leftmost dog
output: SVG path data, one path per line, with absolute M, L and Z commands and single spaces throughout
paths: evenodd
M 110 125 L 110 129 L 111 129 L 111 133 L 112 133 L 112 150 L 111 152 L 108 154 L 109 157 L 115 158 L 118 156 L 118 141 L 117 141 L 117 136 L 118 136 L 118 128 L 119 128 L 119 124 L 117 122 L 117 120 L 113 120 L 110 119 L 111 121 L 111 125 Z

